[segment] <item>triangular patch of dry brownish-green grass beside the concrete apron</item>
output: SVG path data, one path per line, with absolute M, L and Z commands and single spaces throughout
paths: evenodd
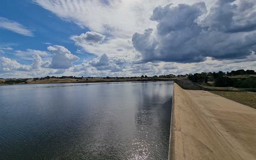
M 232 101 L 247 105 L 256 109 L 256 93 L 255 92 L 225 92 L 225 91 L 209 91 L 221 97 L 225 97 Z

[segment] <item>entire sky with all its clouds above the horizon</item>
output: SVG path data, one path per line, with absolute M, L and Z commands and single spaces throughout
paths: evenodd
M 255 0 L 0 0 L 0 78 L 256 70 Z

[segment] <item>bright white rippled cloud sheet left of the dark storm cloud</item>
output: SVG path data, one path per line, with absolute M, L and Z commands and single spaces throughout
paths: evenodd
M 171 2 L 192 4 L 196 1 L 200 0 L 172 0 Z M 205 1 L 208 4 L 212 3 L 212 0 Z M 107 4 L 102 0 L 33 0 L 33 2 L 61 19 L 107 35 L 104 43 L 101 44 L 88 45 L 75 40 L 76 45 L 83 47 L 85 51 L 96 55 L 106 53 L 110 57 L 132 58 L 134 51 L 130 42 L 133 33 L 143 32 L 149 27 L 156 28 L 157 22 L 150 20 L 152 11 L 159 5 L 169 4 L 170 0 L 111 0 Z

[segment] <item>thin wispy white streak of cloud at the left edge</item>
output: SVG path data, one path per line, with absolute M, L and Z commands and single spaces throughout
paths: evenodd
M 7 18 L 0 17 L 0 28 L 4 28 L 6 30 L 10 30 L 12 32 L 25 35 L 25 36 L 30 36 L 33 37 L 33 32 L 31 30 L 28 30 L 27 27 L 23 26 L 22 24 L 11 21 Z

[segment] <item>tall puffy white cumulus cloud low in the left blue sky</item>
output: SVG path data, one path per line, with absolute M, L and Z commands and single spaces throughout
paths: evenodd
M 51 62 L 44 63 L 44 67 L 54 69 L 67 69 L 73 66 L 74 62 L 79 60 L 76 55 L 71 54 L 71 52 L 64 46 L 54 45 L 47 47 L 47 49 L 52 51 L 54 56 Z

